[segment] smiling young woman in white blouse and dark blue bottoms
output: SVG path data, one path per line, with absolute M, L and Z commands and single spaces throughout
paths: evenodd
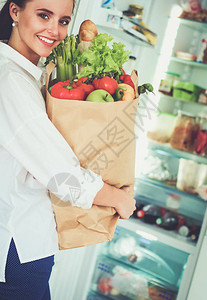
M 125 219 L 135 209 L 127 189 L 77 164 L 46 114 L 37 64 L 65 38 L 73 8 L 72 0 L 8 0 L 0 12 L 1 300 L 50 299 L 58 240 L 47 186 L 57 174 L 80 187 L 65 199 L 72 205 L 112 206 Z M 68 195 L 68 185 L 61 193 Z

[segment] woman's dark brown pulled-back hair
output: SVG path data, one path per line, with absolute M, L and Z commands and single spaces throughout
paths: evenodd
M 24 9 L 27 2 L 31 0 L 7 0 L 3 8 L 0 11 L 0 40 L 8 40 L 12 31 L 13 20 L 9 13 L 10 3 L 13 2 L 21 9 Z M 58 5 L 58 4 L 57 4 Z M 73 0 L 73 9 L 75 6 L 75 0 Z

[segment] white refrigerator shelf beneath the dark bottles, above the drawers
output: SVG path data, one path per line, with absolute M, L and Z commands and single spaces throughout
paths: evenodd
M 188 241 L 187 238 L 179 236 L 173 231 L 165 231 L 157 226 L 143 223 L 138 219 L 130 218 L 128 222 L 119 220 L 118 225 L 125 229 L 135 231 L 145 238 L 159 240 L 168 246 L 186 253 L 193 254 L 196 251 L 196 244 Z

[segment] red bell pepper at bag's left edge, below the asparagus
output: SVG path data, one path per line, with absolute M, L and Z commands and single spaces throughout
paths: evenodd
M 72 88 L 69 86 L 69 80 L 57 82 L 51 89 L 51 96 L 58 99 L 84 100 L 86 93 L 81 87 Z

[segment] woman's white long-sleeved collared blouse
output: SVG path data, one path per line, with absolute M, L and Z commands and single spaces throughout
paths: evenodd
M 12 238 L 22 263 L 58 251 L 48 188 L 53 192 L 56 189 L 56 194 L 72 205 L 90 208 L 103 187 L 99 175 L 80 167 L 72 149 L 48 119 L 38 86 L 41 75 L 39 67 L 0 42 L 0 281 L 3 282 Z M 58 184 L 59 179 L 67 182 Z M 74 185 L 76 192 L 71 195 L 69 186 Z

